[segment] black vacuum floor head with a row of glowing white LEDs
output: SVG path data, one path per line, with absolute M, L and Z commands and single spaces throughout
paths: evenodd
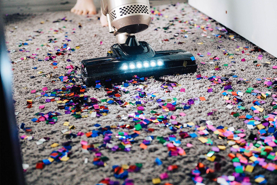
M 106 57 L 82 60 L 82 79 L 87 86 L 96 80 L 122 82 L 134 75 L 160 77 L 196 72 L 195 57 L 184 50 L 154 51 L 144 41 L 136 39 L 125 44 L 114 44 Z

